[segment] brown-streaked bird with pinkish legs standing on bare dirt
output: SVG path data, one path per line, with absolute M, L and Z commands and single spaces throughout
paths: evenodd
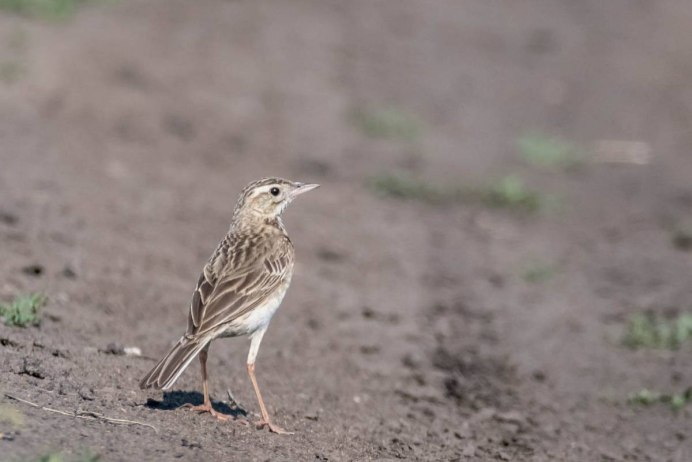
M 281 219 L 282 213 L 296 197 L 318 186 L 283 178 L 263 178 L 243 189 L 228 233 L 199 276 L 190 301 L 185 334 L 142 378 L 140 388 L 170 389 L 199 356 L 204 401 L 190 407 L 227 421 L 231 416 L 216 411 L 209 399 L 209 346 L 217 338 L 247 335 L 250 339 L 247 371 L 261 412 L 256 427 L 290 434 L 274 424 L 267 412 L 255 377 L 255 360 L 269 322 L 293 276 L 295 251 Z

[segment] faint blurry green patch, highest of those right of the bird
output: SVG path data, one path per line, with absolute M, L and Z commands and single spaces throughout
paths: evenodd
M 353 121 L 370 138 L 416 141 L 423 132 L 417 117 L 393 107 L 356 111 Z

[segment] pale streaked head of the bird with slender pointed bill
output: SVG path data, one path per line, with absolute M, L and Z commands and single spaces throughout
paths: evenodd
M 293 199 L 318 186 L 318 184 L 298 183 L 283 178 L 263 178 L 250 183 L 243 189 L 233 216 L 263 220 L 278 218 Z

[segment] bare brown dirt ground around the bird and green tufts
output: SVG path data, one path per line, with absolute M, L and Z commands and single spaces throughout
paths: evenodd
M 689 461 L 689 411 L 627 404 L 692 380 L 690 348 L 632 351 L 633 312 L 692 305 L 692 6 L 686 0 L 173 1 L 0 15 L 0 299 L 49 297 L 0 327 L 0 459 Z M 8 64 L 8 65 L 9 65 Z M 14 71 L 12 71 L 14 69 Z M 10 72 L 12 71 L 12 72 Z M 416 141 L 354 111 L 397 107 Z M 540 171 L 531 130 L 590 149 L 642 141 L 646 166 Z M 523 175 L 559 213 L 378 197 L 373 175 L 437 184 Z M 218 423 L 194 364 L 140 377 L 183 332 L 239 190 L 323 186 L 286 212 L 294 282 L 258 377 L 290 437 Z M 543 283 L 530 261 L 559 268 Z M 26 268 L 37 265 L 37 271 Z M 104 352 L 113 342 L 143 357 Z M 246 339 L 211 349 L 211 390 L 250 414 Z M 7 408 L 4 408 L 7 409 Z

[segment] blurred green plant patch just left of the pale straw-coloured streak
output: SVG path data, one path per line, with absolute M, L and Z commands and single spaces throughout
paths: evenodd
M 542 133 L 529 133 L 517 140 L 521 158 L 534 167 L 572 168 L 584 162 L 584 156 L 571 143 Z

